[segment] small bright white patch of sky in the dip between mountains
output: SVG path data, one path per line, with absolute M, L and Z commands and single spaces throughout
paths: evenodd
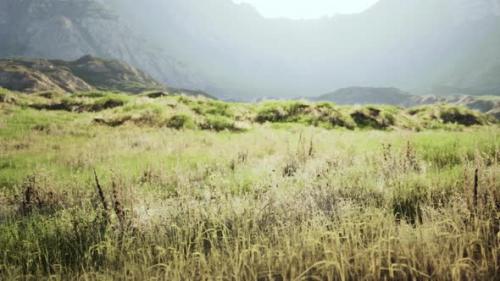
M 233 0 L 252 4 L 265 17 L 319 18 L 358 13 L 378 0 Z

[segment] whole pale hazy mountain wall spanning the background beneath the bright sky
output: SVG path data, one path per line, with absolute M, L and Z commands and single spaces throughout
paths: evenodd
M 0 56 L 116 58 L 236 100 L 351 85 L 500 94 L 491 0 L 380 0 L 317 20 L 267 19 L 231 0 L 0 0 L 0 38 Z

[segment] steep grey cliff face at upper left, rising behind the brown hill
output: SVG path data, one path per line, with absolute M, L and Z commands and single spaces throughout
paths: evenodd
M 0 0 L 0 57 L 125 61 L 175 87 L 206 88 L 185 64 L 154 48 L 95 0 Z

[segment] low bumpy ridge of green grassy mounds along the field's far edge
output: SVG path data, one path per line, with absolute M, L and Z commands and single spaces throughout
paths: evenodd
M 404 109 L 396 106 L 337 106 L 328 102 L 272 101 L 257 104 L 223 102 L 203 96 L 149 92 L 131 96 L 109 92 L 65 95 L 43 92 L 13 94 L 3 90 L 0 102 L 36 110 L 92 113 L 109 126 L 139 126 L 213 131 L 245 131 L 266 124 L 301 124 L 347 130 L 457 130 L 496 123 L 491 116 L 451 105 Z

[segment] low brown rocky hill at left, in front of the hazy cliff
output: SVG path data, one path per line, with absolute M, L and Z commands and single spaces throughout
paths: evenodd
M 144 72 L 117 60 L 84 56 L 76 61 L 0 59 L 0 87 L 21 91 L 92 89 L 142 92 L 164 89 Z

